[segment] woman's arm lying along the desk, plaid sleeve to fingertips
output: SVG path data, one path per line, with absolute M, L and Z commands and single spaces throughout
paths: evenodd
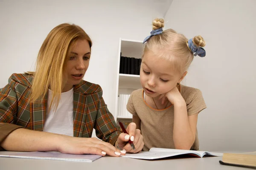
M 16 113 L 17 94 L 6 85 L 0 92 L 0 147 L 5 150 L 120 155 L 120 150 L 113 145 L 96 138 L 76 138 L 20 128 L 14 124 Z

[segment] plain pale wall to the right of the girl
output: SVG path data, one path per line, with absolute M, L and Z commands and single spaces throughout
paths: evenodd
M 203 92 L 201 150 L 256 150 L 256 0 L 173 0 L 167 28 L 206 40 L 184 82 Z

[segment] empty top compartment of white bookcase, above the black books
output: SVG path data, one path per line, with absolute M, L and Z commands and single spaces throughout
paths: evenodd
M 143 52 L 142 41 L 121 40 L 121 53 L 124 57 L 141 58 Z

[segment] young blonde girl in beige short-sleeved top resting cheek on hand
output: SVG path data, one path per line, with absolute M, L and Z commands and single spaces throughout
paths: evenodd
M 142 89 L 133 91 L 127 110 L 151 147 L 198 150 L 197 119 L 206 105 L 201 91 L 180 85 L 194 53 L 205 56 L 201 36 L 186 39 L 172 29 L 163 31 L 164 20 L 153 21 L 146 37 L 140 67 Z M 143 42 L 143 43 L 144 43 Z

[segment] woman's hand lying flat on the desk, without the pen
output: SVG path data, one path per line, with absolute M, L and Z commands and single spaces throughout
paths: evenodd
M 60 135 L 57 141 L 60 141 L 57 150 L 61 153 L 96 154 L 102 156 L 107 154 L 115 157 L 125 155 L 125 153 L 121 153 L 121 151 L 112 144 L 97 138 L 78 138 Z

